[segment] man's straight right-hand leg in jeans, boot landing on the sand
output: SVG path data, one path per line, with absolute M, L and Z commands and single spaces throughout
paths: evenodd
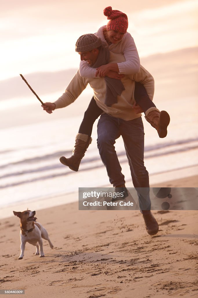
M 142 118 L 139 117 L 130 121 L 121 120 L 120 132 L 129 160 L 132 181 L 139 196 L 140 210 L 144 217 L 147 232 L 150 235 L 155 235 L 159 227 L 150 211 L 149 177 L 144 166 L 144 127 Z

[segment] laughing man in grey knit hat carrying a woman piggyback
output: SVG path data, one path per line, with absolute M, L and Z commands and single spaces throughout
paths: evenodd
M 82 51 L 81 49 L 85 49 L 85 46 L 86 51 Z M 76 43 L 76 49 L 81 59 L 86 60 L 89 65 L 94 65 L 99 57 L 101 58 L 101 51 L 104 50 L 100 38 L 94 34 L 81 36 Z M 110 63 L 122 61 L 125 61 L 123 55 L 110 52 Z M 112 101 L 114 99 L 112 99 L 111 92 L 109 90 L 107 92 L 108 83 L 105 78 L 84 78 L 77 71 L 64 94 L 54 103 L 45 103 L 42 107 L 47 113 L 52 113 L 56 108 L 63 108 L 74 102 L 88 83 L 90 84 L 98 107 L 104 111 L 98 122 L 97 144 L 110 183 L 114 187 L 125 187 L 124 176 L 121 173 L 121 166 L 114 148 L 115 139 L 122 136 L 146 229 L 148 234 L 155 235 L 159 227 L 150 211 L 149 177 L 144 166 L 144 128 L 141 114 L 137 114 L 133 108 L 135 81 L 142 83 L 149 97 L 153 98 L 153 77 L 143 67 L 138 74 L 124 76 L 121 79 L 123 89 L 118 96 L 115 96 L 115 102 Z M 111 104 L 107 104 L 107 102 Z

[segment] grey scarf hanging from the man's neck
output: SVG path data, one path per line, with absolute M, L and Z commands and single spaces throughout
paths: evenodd
M 110 51 L 109 49 L 105 48 L 104 46 L 101 47 L 98 58 L 96 60 L 96 63 L 92 65 L 91 67 L 97 68 L 101 65 L 109 63 L 110 59 Z M 107 84 L 107 90 L 106 90 L 106 97 L 105 97 L 105 105 L 107 107 L 110 107 L 114 103 L 117 103 L 117 96 L 121 95 L 122 91 L 125 90 L 123 83 L 121 80 L 112 79 L 110 77 L 104 77 L 106 84 Z

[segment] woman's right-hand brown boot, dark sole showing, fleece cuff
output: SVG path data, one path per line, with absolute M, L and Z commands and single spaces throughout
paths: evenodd
M 166 111 L 159 111 L 152 107 L 146 111 L 145 119 L 157 130 L 160 138 L 167 135 L 167 126 L 170 122 L 170 116 Z

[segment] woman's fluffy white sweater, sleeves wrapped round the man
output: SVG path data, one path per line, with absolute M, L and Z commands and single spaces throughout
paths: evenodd
M 115 54 L 124 54 L 125 61 L 117 63 L 119 68 L 119 73 L 124 75 L 133 75 L 140 70 L 140 58 L 137 52 L 137 48 L 134 43 L 134 39 L 130 33 L 126 32 L 118 44 L 107 44 L 104 38 L 103 31 L 106 30 L 106 26 L 100 27 L 95 33 L 101 38 L 103 46 L 108 47 L 108 49 Z M 96 69 L 90 67 L 86 61 L 80 61 L 79 72 L 81 77 L 95 78 Z

